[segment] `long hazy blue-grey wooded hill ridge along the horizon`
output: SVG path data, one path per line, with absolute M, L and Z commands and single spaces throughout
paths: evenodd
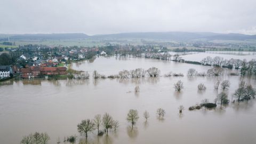
M 1 36 L 0 41 L 6 41 L 7 35 Z M 225 39 L 244 41 L 247 39 L 255 39 L 256 35 L 243 34 L 218 34 L 218 33 L 189 33 L 189 32 L 147 32 L 147 33 L 120 33 L 108 35 L 86 35 L 83 33 L 70 34 L 23 34 L 23 35 L 9 35 L 12 40 L 29 40 L 29 39 L 77 39 L 77 38 L 92 38 L 92 39 L 165 39 L 174 41 L 189 41 L 196 39 Z

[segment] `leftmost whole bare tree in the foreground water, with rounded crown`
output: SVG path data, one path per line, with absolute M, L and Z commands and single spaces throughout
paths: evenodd
M 92 132 L 94 129 L 95 129 L 95 124 L 90 119 L 82 120 L 82 122 L 77 125 L 78 132 L 81 135 L 85 134 L 86 139 L 88 137 L 87 133 Z

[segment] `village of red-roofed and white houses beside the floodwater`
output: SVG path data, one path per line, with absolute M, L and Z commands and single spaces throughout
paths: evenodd
M 105 51 L 99 49 L 86 49 L 78 47 L 66 47 L 66 49 L 54 49 L 48 46 L 25 45 L 18 49 L 9 49 L 7 57 L 14 59 L 10 65 L 0 66 L 0 81 L 12 77 L 17 78 L 48 78 L 67 77 L 68 64 L 72 61 L 90 59 L 94 55 L 106 56 Z M 3 57 L 3 56 L 2 56 Z

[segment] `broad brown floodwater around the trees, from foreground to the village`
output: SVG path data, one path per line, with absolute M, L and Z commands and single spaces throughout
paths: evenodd
M 231 83 L 226 92 L 231 93 L 243 79 L 256 87 L 255 77 L 186 76 L 189 68 L 198 72 L 210 67 L 142 58 L 97 58 L 91 61 L 73 63 L 77 70 L 99 71 L 100 74 L 117 74 L 123 69 L 157 67 L 161 75 L 170 71 L 183 73 L 184 77 L 157 77 L 140 79 L 97 79 L 87 80 L 24 80 L 7 81 L 0 85 L 0 143 L 19 143 L 23 135 L 33 132 L 47 132 L 50 143 L 64 140 L 76 134 L 77 143 L 85 143 L 84 137 L 77 132 L 77 124 L 82 119 L 109 113 L 117 121 L 119 128 L 107 135 L 97 137 L 97 132 L 89 134 L 87 143 L 256 143 L 256 106 L 255 100 L 229 103 L 223 109 L 201 109 L 189 111 L 188 107 L 203 99 L 210 102 L 216 98 L 213 85 L 218 80 L 228 79 Z M 234 70 L 233 70 L 234 71 Z M 230 70 L 226 70 L 230 73 Z M 184 89 L 177 93 L 173 84 L 178 80 Z M 205 92 L 197 91 L 197 85 L 204 83 Z M 134 93 L 134 87 L 140 92 Z M 185 110 L 179 115 L 178 107 Z M 159 119 L 156 109 L 166 111 L 164 119 Z M 126 121 L 129 109 L 139 111 L 139 120 L 131 129 Z M 150 114 L 145 123 L 143 112 Z M 102 129 L 102 127 L 101 127 Z M 63 142 L 62 142 L 63 143 Z

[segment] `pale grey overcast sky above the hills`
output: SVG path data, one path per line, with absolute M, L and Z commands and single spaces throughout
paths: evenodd
M 1 0 L 0 33 L 256 34 L 255 0 Z

